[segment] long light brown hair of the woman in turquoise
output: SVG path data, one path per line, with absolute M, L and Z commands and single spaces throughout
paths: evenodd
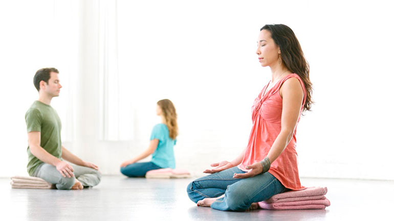
M 162 110 L 169 137 L 174 140 L 178 136 L 177 111 L 172 102 L 168 99 L 158 101 L 157 105 L 159 105 Z

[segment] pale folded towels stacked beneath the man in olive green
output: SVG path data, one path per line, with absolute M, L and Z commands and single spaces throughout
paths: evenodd
M 12 188 L 54 189 L 55 185 L 38 177 L 11 177 Z

